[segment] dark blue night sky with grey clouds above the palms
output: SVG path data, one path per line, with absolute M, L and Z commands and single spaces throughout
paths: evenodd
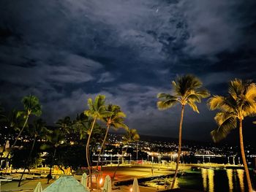
M 32 93 L 54 123 L 105 94 L 140 134 L 177 137 L 181 109 L 157 110 L 157 93 L 187 73 L 212 94 L 234 77 L 256 80 L 255 9 L 254 0 L 1 0 L 0 101 L 19 108 Z M 206 101 L 199 110 L 186 108 L 185 139 L 210 140 L 215 112 Z

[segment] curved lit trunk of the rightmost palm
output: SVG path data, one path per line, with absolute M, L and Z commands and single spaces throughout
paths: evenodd
M 246 174 L 248 190 L 249 190 L 249 192 L 252 192 L 252 183 L 251 183 L 251 179 L 249 177 L 249 170 L 248 170 L 248 166 L 246 163 L 246 157 L 245 157 L 245 153 L 244 153 L 244 139 L 243 139 L 243 130 L 242 130 L 242 120 L 241 119 L 239 119 L 239 139 L 240 139 L 241 156 L 242 156 L 242 160 L 243 160 L 243 164 L 244 164 L 244 171 Z

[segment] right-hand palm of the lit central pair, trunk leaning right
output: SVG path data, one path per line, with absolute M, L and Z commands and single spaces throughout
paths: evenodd
M 99 158 L 100 158 L 100 155 L 102 153 L 102 149 L 105 145 L 105 141 L 106 141 L 107 136 L 108 136 L 109 128 L 112 127 L 115 130 L 118 130 L 118 128 L 125 128 L 125 129 L 128 130 L 128 126 L 124 124 L 124 118 L 126 117 L 126 115 L 124 114 L 124 112 L 121 112 L 121 109 L 118 105 L 109 104 L 108 107 L 107 107 L 107 110 L 109 112 L 112 112 L 112 115 L 110 115 L 108 118 L 104 118 L 105 123 L 107 124 L 107 131 L 105 133 L 105 137 L 104 137 L 104 140 L 102 142 L 102 146 L 100 147 L 100 150 L 99 150 L 97 168 L 99 166 Z

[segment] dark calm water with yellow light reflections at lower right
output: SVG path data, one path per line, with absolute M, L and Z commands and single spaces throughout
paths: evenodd
M 256 185 L 256 176 L 251 173 L 253 185 Z M 178 178 L 178 187 L 200 191 L 219 192 L 246 192 L 246 178 L 243 169 L 199 169 L 187 172 Z

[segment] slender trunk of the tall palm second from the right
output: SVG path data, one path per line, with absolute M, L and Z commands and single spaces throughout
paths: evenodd
M 183 123 L 183 117 L 184 117 L 184 108 L 185 108 L 185 105 L 182 104 L 181 105 L 181 120 L 180 120 L 180 123 L 179 123 L 179 130 L 178 130 L 178 157 L 177 157 L 176 169 L 175 169 L 175 174 L 174 174 L 174 177 L 173 177 L 173 183 L 172 183 L 171 189 L 174 188 L 174 185 L 175 185 L 175 182 L 176 182 L 176 177 L 177 177 L 177 174 L 178 174 L 178 164 L 179 164 L 179 160 L 181 158 L 181 136 L 182 136 L 182 123 Z

